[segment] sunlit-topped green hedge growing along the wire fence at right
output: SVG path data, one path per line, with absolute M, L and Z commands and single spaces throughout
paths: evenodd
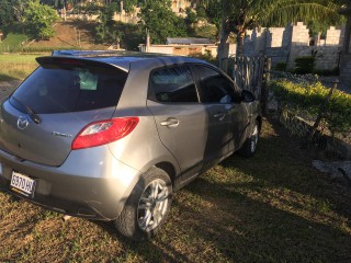
M 326 101 L 330 89 L 320 82 L 314 84 L 301 84 L 291 81 L 275 81 L 270 87 L 278 101 L 298 112 L 307 112 L 312 116 L 317 116 L 320 106 L 326 104 L 322 113 L 329 130 L 348 133 L 351 130 L 351 95 L 342 91 L 335 90 L 329 102 Z

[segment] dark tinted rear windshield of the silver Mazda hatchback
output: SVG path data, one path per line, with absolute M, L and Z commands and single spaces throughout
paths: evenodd
M 19 111 L 25 112 L 25 105 L 37 114 L 116 106 L 126 78 L 125 71 L 113 67 L 46 65 L 15 90 L 10 103 Z

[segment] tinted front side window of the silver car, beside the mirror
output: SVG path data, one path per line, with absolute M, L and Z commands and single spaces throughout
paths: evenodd
M 214 69 L 196 65 L 201 99 L 204 103 L 233 103 L 236 101 L 234 84 Z

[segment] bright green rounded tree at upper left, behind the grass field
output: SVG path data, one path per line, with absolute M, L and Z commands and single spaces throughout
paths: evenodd
M 24 11 L 26 27 L 34 37 L 48 39 L 54 36 L 53 23 L 58 19 L 54 9 L 31 0 Z

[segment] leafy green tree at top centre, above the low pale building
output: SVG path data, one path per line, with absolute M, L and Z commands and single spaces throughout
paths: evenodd
M 169 0 L 145 0 L 140 5 L 139 16 L 156 44 L 165 44 L 167 37 L 186 35 L 184 20 L 177 16 L 170 7 Z

